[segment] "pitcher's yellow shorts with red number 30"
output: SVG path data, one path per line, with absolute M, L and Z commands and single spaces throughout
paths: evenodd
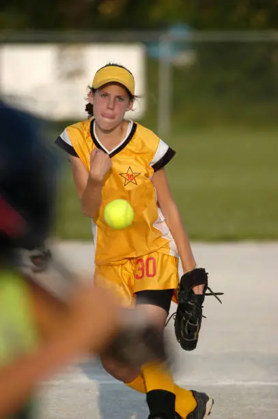
M 96 265 L 94 281 L 115 291 L 123 305 L 134 305 L 136 292 L 178 288 L 178 258 L 153 252 L 120 265 Z

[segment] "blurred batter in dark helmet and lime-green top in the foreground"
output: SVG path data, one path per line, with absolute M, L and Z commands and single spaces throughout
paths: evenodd
M 152 327 L 130 328 L 114 297 L 92 283 L 75 279 L 58 299 L 23 273 L 20 249 L 42 246 L 51 227 L 56 163 L 36 118 L 0 103 L 0 123 L 0 418 L 29 419 L 40 381 L 87 353 L 110 348 L 124 359 L 119 340 L 132 347 L 135 331 L 143 340 Z

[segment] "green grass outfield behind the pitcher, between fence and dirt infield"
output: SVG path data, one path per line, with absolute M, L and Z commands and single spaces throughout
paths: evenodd
M 167 175 L 191 240 L 278 238 L 278 128 L 184 129 Z M 55 233 L 92 240 L 66 164 Z

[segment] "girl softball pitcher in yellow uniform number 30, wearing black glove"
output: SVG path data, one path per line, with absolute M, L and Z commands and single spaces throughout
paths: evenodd
M 106 278 L 123 305 L 136 303 L 163 331 L 171 301 L 177 299 L 180 256 L 184 275 L 175 330 L 182 347 L 191 350 L 197 344 L 208 276 L 196 266 L 167 181 L 165 166 L 175 151 L 150 129 L 125 119 L 134 101 L 132 73 L 107 64 L 89 88 L 89 118 L 66 127 L 56 144 L 68 153 L 82 210 L 92 219 L 96 283 Z M 105 223 L 105 206 L 114 199 L 125 199 L 133 207 L 134 223 L 126 229 Z M 182 330 L 184 304 L 195 307 L 193 316 L 199 322 L 192 329 L 187 322 Z M 175 385 L 163 364 L 145 364 L 136 377 L 112 358 L 102 357 L 102 364 L 113 377 L 146 394 L 149 418 L 199 419 L 210 414 L 212 398 Z

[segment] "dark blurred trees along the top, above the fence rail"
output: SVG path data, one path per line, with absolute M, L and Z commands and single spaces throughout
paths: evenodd
M 0 29 L 277 29 L 277 0 L 1 0 Z

